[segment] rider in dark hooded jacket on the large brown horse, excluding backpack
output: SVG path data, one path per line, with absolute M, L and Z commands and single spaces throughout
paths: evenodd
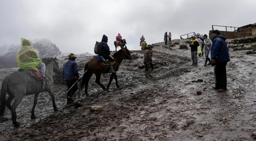
M 109 50 L 109 47 L 108 47 L 108 44 L 107 44 L 108 37 L 106 35 L 103 35 L 101 42 L 102 42 L 102 49 L 101 49 L 102 53 L 99 54 L 99 55 L 101 55 L 105 59 L 109 60 L 109 62 L 110 62 L 110 69 L 109 69 L 109 71 L 111 73 L 115 73 L 114 68 L 113 68 L 114 67 L 114 59 L 110 55 L 110 50 Z

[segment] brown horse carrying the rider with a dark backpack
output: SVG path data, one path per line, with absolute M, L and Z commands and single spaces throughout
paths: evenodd
M 132 60 L 132 55 L 130 53 L 130 51 L 127 49 L 127 47 L 125 46 L 125 48 L 118 50 L 116 53 L 114 53 L 114 55 L 111 55 L 114 60 L 115 60 L 115 64 L 114 64 L 114 71 L 117 71 L 119 68 L 119 65 L 121 64 L 121 62 L 123 61 L 124 57 Z M 99 84 L 104 91 L 108 91 L 109 86 L 113 80 L 113 77 L 115 78 L 115 84 L 117 85 L 117 87 L 119 88 L 120 86 L 118 85 L 117 82 L 117 74 L 116 73 L 111 73 L 110 76 L 110 80 L 108 82 L 108 86 L 107 89 L 101 84 L 100 82 L 100 77 L 102 73 L 109 73 L 109 67 L 106 65 L 103 65 L 102 62 L 99 62 L 96 58 L 91 59 L 90 61 L 88 61 L 85 64 L 84 67 L 84 72 L 87 70 L 87 72 L 83 75 L 82 78 L 82 82 L 80 83 L 79 87 L 80 90 L 83 90 L 83 87 L 85 86 L 85 94 L 88 95 L 87 89 L 88 89 L 88 81 L 91 78 L 91 75 L 95 74 L 96 75 L 96 83 Z

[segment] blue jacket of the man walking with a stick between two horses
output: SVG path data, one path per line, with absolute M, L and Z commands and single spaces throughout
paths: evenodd
M 70 58 L 69 61 L 63 64 L 62 78 L 65 80 L 72 80 L 79 78 L 78 65 L 75 58 Z

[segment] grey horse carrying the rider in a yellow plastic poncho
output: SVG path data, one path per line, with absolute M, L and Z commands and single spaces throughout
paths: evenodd
M 38 94 L 41 92 L 48 92 L 53 102 L 54 111 L 58 111 L 56 107 L 53 92 L 52 92 L 52 84 L 53 84 L 53 72 L 60 74 L 59 64 L 56 62 L 55 58 L 44 58 L 42 61 L 46 65 L 46 74 L 48 77 L 48 84 L 46 81 L 37 80 L 34 76 L 31 76 L 28 72 L 14 72 L 7 76 L 7 78 L 2 82 L 1 89 L 1 106 L 0 106 L 0 117 L 4 116 L 5 113 L 5 105 L 8 109 L 11 110 L 12 113 L 12 123 L 14 126 L 19 126 L 16 118 L 16 108 L 20 104 L 21 100 L 25 95 L 34 94 L 34 105 L 31 110 L 31 118 L 35 118 L 35 106 L 37 103 Z M 8 94 L 8 98 L 6 99 L 6 92 Z M 13 104 L 11 105 L 11 101 L 14 99 Z

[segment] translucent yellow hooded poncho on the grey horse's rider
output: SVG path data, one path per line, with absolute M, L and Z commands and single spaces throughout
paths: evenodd
M 22 47 L 19 48 L 16 55 L 17 64 L 20 69 L 29 71 L 42 63 L 42 60 L 39 59 L 38 52 L 31 47 L 31 41 L 21 38 L 21 44 Z

